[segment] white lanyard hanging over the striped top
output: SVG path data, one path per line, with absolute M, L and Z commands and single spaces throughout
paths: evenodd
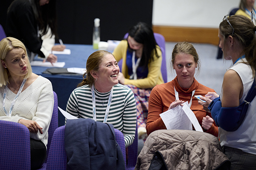
M 92 91 L 92 98 L 93 98 L 93 120 L 97 121 L 94 85 L 91 86 L 91 91 Z M 107 123 L 108 113 L 109 113 L 109 109 L 110 109 L 110 105 L 111 105 L 111 101 L 112 101 L 112 96 L 113 96 L 113 87 L 112 87 L 111 92 L 110 92 L 109 97 L 108 97 L 108 106 L 106 108 L 106 112 L 105 112 L 103 123 Z

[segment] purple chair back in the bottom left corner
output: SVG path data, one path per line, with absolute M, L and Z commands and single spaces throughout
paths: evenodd
M 30 134 L 23 124 L 0 121 L 0 169 L 30 170 Z

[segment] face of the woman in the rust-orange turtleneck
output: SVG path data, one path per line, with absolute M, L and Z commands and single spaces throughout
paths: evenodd
M 193 84 L 195 68 L 197 66 L 192 55 L 181 52 L 175 56 L 173 69 L 175 69 L 178 83 L 181 87 L 189 88 Z

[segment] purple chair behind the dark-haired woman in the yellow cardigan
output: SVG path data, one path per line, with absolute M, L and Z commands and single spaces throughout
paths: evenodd
M 124 39 L 126 39 L 128 37 L 128 33 L 125 34 Z M 158 46 L 160 46 L 160 49 L 162 51 L 162 67 L 161 67 L 161 72 L 162 72 L 162 76 L 163 76 L 163 81 L 165 83 L 167 83 L 167 70 L 166 70 L 166 50 L 165 50 L 165 38 L 163 37 L 163 35 L 160 35 L 158 33 L 154 33 L 154 37 L 155 40 L 158 44 Z M 122 60 L 120 60 L 118 62 L 118 66 L 121 69 L 122 68 Z

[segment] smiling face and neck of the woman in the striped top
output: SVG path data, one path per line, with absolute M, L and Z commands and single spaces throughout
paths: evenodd
M 116 59 L 111 54 L 105 55 L 99 65 L 99 71 L 91 74 L 97 78 L 94 84 L 99 92 L 110 91 L 114 85 L 118 84 L 119 66 Z

